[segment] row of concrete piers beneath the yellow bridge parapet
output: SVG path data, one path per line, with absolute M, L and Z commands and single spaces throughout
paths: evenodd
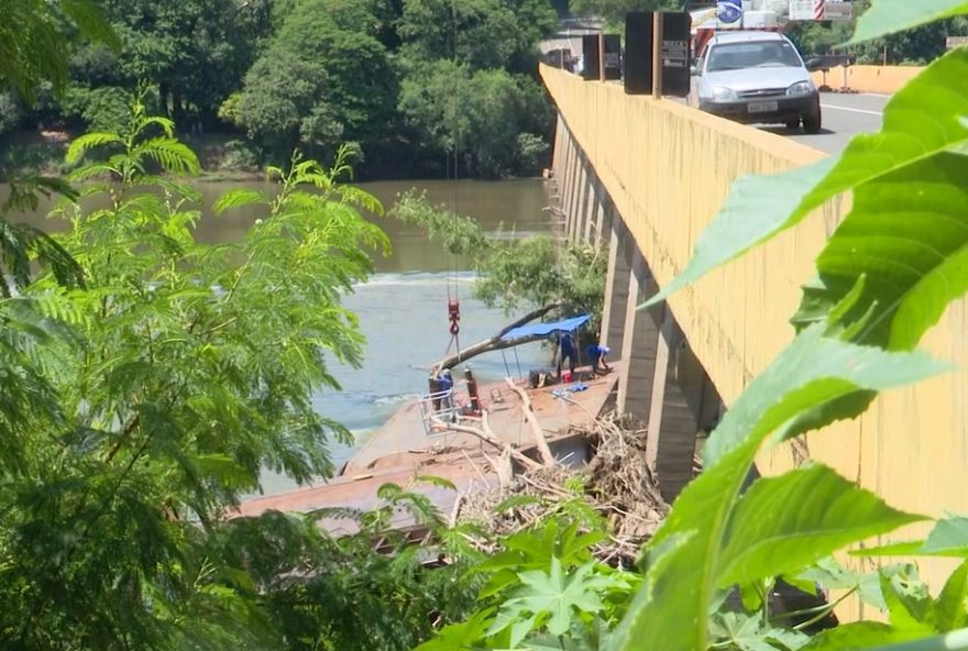
M 617 407 L 647 426 L 646 462 L 672 501 L 692 477 L 696 435 L 718 420 L 722 401 L 669 308 L 638 309 L 659 289 L 649 264 L 562 120 L 557 139 L 563 234 L 608 246 L 601 340 L 625 361 Z

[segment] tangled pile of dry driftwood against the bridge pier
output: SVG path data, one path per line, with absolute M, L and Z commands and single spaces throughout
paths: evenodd
M 593 456 L 587 465 L 566 467 L 540 448 L 542 462 L 529 457 L 522 462 L 519 456 L 524 455 L 505 449 L 488 459 L 502 475 L 501 486 L 464 496 L 453 520 L 474 522 L 492 533 L 488 538 L 493 540 L 553 514 L 591 508 L 607 521 L 610 532 L 609 540 L 596 547 L 596 556 L 616 564 L 635 561 L 641 544 L 669 511 L 646 463 L 647 432 L 625 419 L 608 417 L 572 433 L 583 434 L 591 444 Z M 504 463 L 502 456 L 517 463 Z M 508 501 L 514 496 L 532 497 Z M 514 506 L 498 512 L 503 504 Z

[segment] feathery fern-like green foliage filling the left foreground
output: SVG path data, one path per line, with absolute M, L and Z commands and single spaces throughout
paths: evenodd
M 266 467 L 333 471 L 328 443 L 350 434 L 312 396 L 337 388 L 332 360 L 361 358 L 341 297 L 387 246 L 359 213 L 378 203 L 296 158 L 241 241 L 208 245 L 198 194 L 174 178 L 198 161 L 142 102 L 69 157 L 103 208 L 63 205 L 56 239 L 0 222 L 20 284 L 0 298 L 0 647 L 278 648 L 261 591 L 288 598 L 286 580 L 222 520 Z M 242 199 L 219 219 L 261 198 Z M 31 280 L 52 253 L 74 266 Z M 315 523 L 297 529 L 304 551 L 267 570 L 346 558 Z

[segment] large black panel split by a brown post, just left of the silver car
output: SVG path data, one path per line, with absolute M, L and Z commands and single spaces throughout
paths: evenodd
M 662 14 L 662 95 L 689 95 L 692 19 L 689 13 Z M 652 12 L 625 16 L 625 91 L 652 93 Z

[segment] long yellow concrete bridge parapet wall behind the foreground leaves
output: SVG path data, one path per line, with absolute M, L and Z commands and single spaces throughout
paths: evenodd
M 734 180 L 824 156 L 674 101 L 625 95 L 618 84 L 583 81 L 543 66 L 541 76 L 660 286 L 685 267 Z M 837 199 L 669 299 L 727 405 L 792 340 L 788 320 L 800 302 L 800 286 L 813 276 L 815 256 L 847 210 L 849 200 Z M 812 434 L 811 456 L 898 508 L 932 516 L 968 511 L 966 325 L 965 302 L 956 302 L 923 343 L 959 371 L 888 393 L 859 420 Z M 765 455 L 760 467 L 776 473 L 794 464 L 784 446 Z M 927 561 L 921 567 L 935 592 L 952 569 Z M 848 604 L 842 615 L 862 615 L 861 608 Z

